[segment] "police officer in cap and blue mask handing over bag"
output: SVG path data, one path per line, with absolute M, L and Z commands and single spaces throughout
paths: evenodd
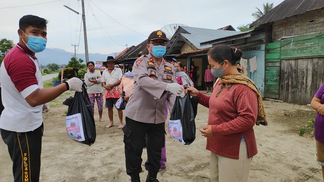
M 126 172 L 132 181 L 140 181 L 141 155 L 147 134 L 146 181 L 158 182 L 156 174 L 164 147 L 165 103 L 167 100 L 171 111 L 176 96 L 180 96 L 184 88 L 176 82 L 174 66 L 163 58 L 169 41 L 166 34 L 156 30 L 147 40 L 149 55 L 141 56 L 134 63 L 134 88 L 125 109 Z

